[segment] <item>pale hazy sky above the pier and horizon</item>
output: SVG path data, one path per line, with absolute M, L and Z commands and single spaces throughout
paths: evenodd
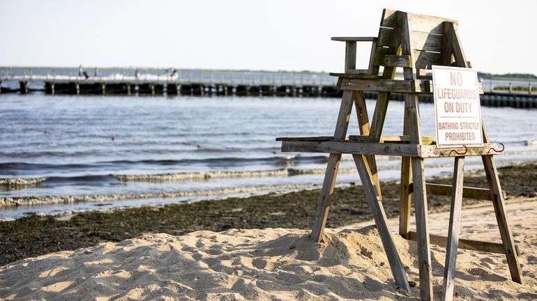
M 382 8 L 459 20 L 477 70 L 537 74 L 534 0 L 0 0 L 0 65 L 341 72 L 331 36 L 377 36 Z

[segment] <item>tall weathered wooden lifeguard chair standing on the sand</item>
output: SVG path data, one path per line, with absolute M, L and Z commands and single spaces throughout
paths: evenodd
M 386 225 L 386 214 L 382 206 L 381 187 L 375 162 L 375 155 L 400 156 L 402 157 L 402 165 L 399 234 L 407 240 L 417 240 L 418 242 L 421 298 L 432 300 L 430 244 L 447 247 L 443 286 L 445 300 L 453 298 L 457 247 L 506 254 L 511 278 L 513 281 L 522 283 L 517 249 L 504 209 L 504 193 L 501 190 L 494 164 L 493 155 L 499 151 L 497 151 L 497 144 L 490 143 L 483 119 L 481 119 L 481 126 L 484 144 L 480 147 L 437 148 L 434 137 L 423 137 L 421 134 L 418 95 L 431 94 L 433 91 L 432 76 L 428 75 L 426 70 L 431 69 L 432 65 L 470 67 L 469 62 L 464 57 L 457 35 L 457 21 L 385 9 L 378 37 L 332 38 L 332 40 L 345 42 L 346 45 L 345 73 L 331 73 L 331 75 L 338 77 L 338 86 L 343 90 L 333 137 L 276 139 L 282 141 L 282 152 L 330 154 L 310 238 L 317 242 L 322 240 L 341 155 L 343 153 L 351 154 L 358 169 L 366 199 L 372 210 L 395 282 L 400 288 L 409 291 L 404 267 Z M 356 42 L 362 41 L 372 42 L 370 63 L 368 69 L 357 70 Z M 402 68 L 403 79 L 395 79 L 396 68 Z M 363 91 L 378 92 L 371 123 Z M 381 135 L 390 93 L 404 93 L 401 136 Z M 361 135 L 347 137 L 353 105 L 356 106 Z M 462 186 L 464 157 L 474 155 L 480 155 L 483 160 L 489 189 Z M 454 157 L 452 186 L 425 183 L 423 160 L 434 157 Z M 451 195 L 451 215 L 447 237 L 429 235 L 427 194 Z M 492 201 L 501 234 L 501 244 L 478 240 L 459 240 L 463 197 Z M 409 230 L 411 199 L 414 200 L 416 209 L 415 232 Z

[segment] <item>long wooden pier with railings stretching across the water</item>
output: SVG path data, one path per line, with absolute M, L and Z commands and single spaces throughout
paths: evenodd
M 68 95 L 197 95 L 341 98 L 337 78 L 315 72 L 150 68 L 0 67 L 0 93 Z M 483 80 L 481 104 L 537 108 L 537 82 Z M 377 92 L 365 91 L 368 99 Z M 391 95 L 403 100 L 402 94 Z M 431 95 L 420 95 L 432 102 Z

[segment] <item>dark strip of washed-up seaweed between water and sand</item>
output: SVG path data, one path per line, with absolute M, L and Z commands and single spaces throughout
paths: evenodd
M 502 189 L 508 199 L 537 195 L 537 162 L 499 168 Z M 451 178 L 432 178 L 450 184 Z M 382 184 L 387 217 L 398 215 L 398 183 Z M 485 187 L 481 173 L 469 173 L 464 185 Z M 90 247 L 100 242 L 119 242 L 146 233 L 174 236 L 192 231 L 227 229 L 289 228 L 310 229 L 319 189 L 285 194 L 264 194 L 247 198 L 228 198 L 194 203 L 170 204 L 86 212 L 71 216 L 31 216 L 0 222 L 0 265 L 50 252 Z M 335 189 L 326 227 L 335 228 L 372 219 L 365 195 L 359 185 Z M 446 196 L 429 196 L 429 213 L 449 210 Z M 463 206 L 479 201 L 464 199 Z

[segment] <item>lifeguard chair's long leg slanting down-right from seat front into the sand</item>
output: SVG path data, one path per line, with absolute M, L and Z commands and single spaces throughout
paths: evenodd
M 388 257 L 388 263 L 390 263 L 391 272 L 395 283 L 405 291 L 410 291 L 410 286 L 407 281 L 406 272 L 404 272 L 404 267 L 401 262 L 401 258 L 395 248 L 393 243 L 393 238 L 391 237 L 390 229 L 386 224 L 386 213 L 384 213 L 384 208 L 379 198 L 377 198 L 377 190 L 375 185 L 372 183 L 372 174 L 367 163 L 367 158 L 365 155 L 353 155 L 354 163 L 358 169 L 358 174 L 360 175 L 360 180 L 362 181 L 362 186 L 365 191 L 365 198 L 368 200 L 369 206 L 373 213 L 373 218 L 375 219 L 375 225 L 379 230 L 380 239 L 382 245 L 384 246 L 384 252 L 386 252 L 386 257 Z

